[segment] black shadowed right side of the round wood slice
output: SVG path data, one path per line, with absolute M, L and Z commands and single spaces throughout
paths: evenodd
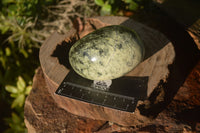
M 165 13 L 163 15 L 167 16 Z M 197 45 L 182 26 L 170 17 L 157 21 L 161 27 L 159 30 L 172 42 L 176 57 L 173 64 L 168 66 L 170 71 L 168 82 L 161 80 L 148 99 L 150 104 L 138 107 L 141 114 L 151 117 L 156 117 L 167 107 L 200 57 Z

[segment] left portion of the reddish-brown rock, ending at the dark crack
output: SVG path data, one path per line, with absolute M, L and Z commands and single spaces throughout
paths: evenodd
M 75 116 L 58 107 L 48 92 L 41 68 L 33 78 L 30 95 L 24 107 L 25 124 L 29 133 L 91 133 L 106 121 Z

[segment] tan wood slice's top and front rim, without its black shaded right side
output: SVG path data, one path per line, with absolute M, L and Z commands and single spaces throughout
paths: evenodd
M 134 29 L 141 37 L 145 45 L 145 59 L 126 76 L 148 76 L 148 92 L 150 96 L 156 88 L 162 88 L 168 82 L 169 66 L 175 59 L 173 44 L 160 32 L 126 17 L 98 17 L 87 19 L 85 30 L 78 36 L 83 37 L 87 33 L 106 25 L 124 25 Z M 40 62 L 44 71 L 48 90 L 56 103 L 63 109 L 96 120 L 106 120 L 120 125 L 130 126 L 141 121 L 150 121 L 140 114 L 137 108 L 134 113 L 123 112 L 107 107 L 97 106 L 67 97 L 55 95 L 59 84 L 69 72 L 67 62 L 70 45 L 77 39 L 75 29 L 66 35 L 54 33 L 40 48 Z M 155 101 L 159 102 L 164 95 Z M 138 106 L 144 101 L 138 102 Z

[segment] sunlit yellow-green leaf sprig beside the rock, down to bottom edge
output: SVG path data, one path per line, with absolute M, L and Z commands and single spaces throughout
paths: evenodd
M 11 118 L 5 119 L 10 127 L 8 130 L 5 131 L 5 133 L 27 132 L 24 124 L 23 106 L 25 102 L 25 97 L 30 93 L 32 86 L 27 86 L 24 79 L 19 76 L 15 86 L 6 85 L 5 89 L 10 93 L 10 97 L 14 99 L 12 101 L 11 108 L 15 109 L 15 112 L 17 112 L 17 114 L 15 112 L 12 112 Z

